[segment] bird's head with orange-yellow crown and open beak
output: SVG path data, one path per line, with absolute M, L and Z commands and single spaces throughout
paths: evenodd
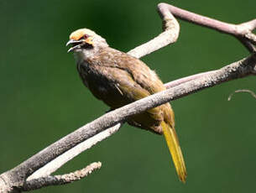
M 103 40 L 103 41 L 102 41 Z M 70 35 L 70 40 L 66 45 L 72 45 L 71 49 L 68 52 L 76 49 L 90 49 L 93 48 L 95 44 L 103 42 L 107 44 L 105 39 L 102 39 L 101 36 L 97 35 L 91 29 L 77 29 L 72 32 Z

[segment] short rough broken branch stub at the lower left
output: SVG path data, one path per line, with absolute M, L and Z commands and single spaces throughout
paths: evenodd
M 54 175 L 42 177 L 34 180 L 29 180 L 24 183 L 24 186 L 21 188 L 24 191 L 36 190 L 42 187 L 49 185 L 65 185 L 71 182 L 81 180 L 82 178 L 90 175 L 94 170 L 99 170 L 102 167 L 101 162 L 95 162 L 86 166 L 82 170 L 76 170 L 67 175 Z

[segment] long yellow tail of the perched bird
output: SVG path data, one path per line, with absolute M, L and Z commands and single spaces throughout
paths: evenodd
M 186 178 L 185 162 L 180 149 L 180 143 L 179 143 L 178 136 L 175 132 L 175 128 L 171 128 L 171 126 L 168 123 L 165 123 L 165 121 L 161 123 L 161 126 L 163 128 L 165 140 L 170 150 L 171 157 L 175 164 L 176 172 L 180 178 L 180 181 L 185 183 L 185 178 Z

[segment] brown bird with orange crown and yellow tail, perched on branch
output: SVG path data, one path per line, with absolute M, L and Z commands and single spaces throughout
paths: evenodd
M 163 82 L 142 60 L 112 49 L 106 39 L 91 29 L 72 32 L 66 46 L 73 52 L 83 84 L 111 110 L 123 107 L 159 91 Z M 185 161 L 175 132 L 175 114 L 170 103 L 154 107 L 127 120 L 128 124 L 164 134 L 180 181 L 185 183 Z

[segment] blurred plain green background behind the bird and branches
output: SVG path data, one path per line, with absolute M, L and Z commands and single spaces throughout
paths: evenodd
M 160 33 L 159 1 L 0 1 L 0 173 L 101 116 L 107 106 L 82 85 L 65 43 L 79 28 L 97 31 L 128 51 Z M 242 23 L 255 18 L 254 0 L 169 1 L 175 6 Z M 237 39 L 180 21 L 180 38 L 144 60 L 164 82 L 214 70 L 248 56 Z M 255 89 L 255 77 L 183 97 L 175 109 L 188 170 L 175 175 L 164 138 L 125 125 L 57 174 L 93 161 L 102 169 L 70 185 L 37 192 L 255 192 L 255 107 L 237 89 Z

